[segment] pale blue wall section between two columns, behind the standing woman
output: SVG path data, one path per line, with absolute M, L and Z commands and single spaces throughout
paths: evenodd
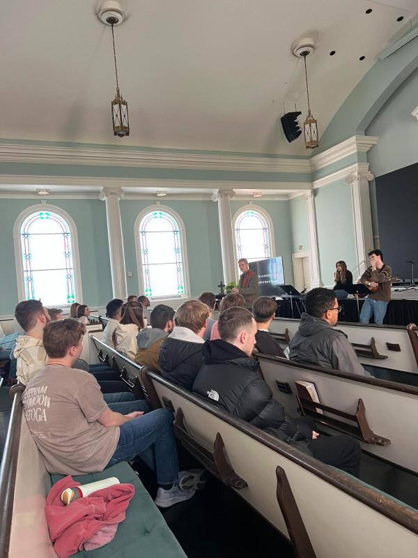
M 334 285 L 335 262 L 357 266 L 351 188 L 343 180 L 315 190 L 320 274 L 325 287 Z

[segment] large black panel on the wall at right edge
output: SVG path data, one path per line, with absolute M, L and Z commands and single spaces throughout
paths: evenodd
M 411 277 L 415 262 L 418 278 L 418 163 L 389 172 L 376 179 L 380 250 L 392 273 Z

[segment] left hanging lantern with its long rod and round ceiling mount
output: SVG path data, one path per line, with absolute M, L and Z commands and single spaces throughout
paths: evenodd
M 111 101 L 111 119 L 114 128 L 114 135 L 118 137 L 125 137 L 129 135 L 129 118 L 127 115 L 127 101 L 121 96 L 118 82 L 118 66 L 116 64 L 116 48 L 115 48 L 115 35 L 114 26 L 120 25 L 125 19 L 125 13 L 118 2 L 108 0 L 104 2 L 99 8 L 99 19 L 102 23 L 111 26 L 111 38 L 114 49 L 114 63 L 116 75 L 116 96 Z

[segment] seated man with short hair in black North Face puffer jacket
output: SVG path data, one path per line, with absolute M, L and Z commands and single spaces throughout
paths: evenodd
M 229 308 L 219 316 L 221 339 L 203 345 L 203 367 L 193 391 L 257 428 L 297 446 L 315 458 L 359 474 L 361 449 L 347 435 L 320 436 L 310 418 L 292 418 L 272 398 L 268 384 L 258 375 L 258 362 L 251 357 L 256 322 L 245 308 Z

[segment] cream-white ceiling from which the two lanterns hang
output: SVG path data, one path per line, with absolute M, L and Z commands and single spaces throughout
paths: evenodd
M 283 100 L 306 112 L 303 62 L 291 46 L 316 40 L 308 72 L 321 133 L 378 54 L 410 28 L 417 0 L 391 3 L 411 9 L 364 0 L 125 1 L 115 35 L 132 131 L 119 139 L 100 2 L 3 2 L 0 137 L 307 155 L 302 138 L 286 142 L 278 121 Z

